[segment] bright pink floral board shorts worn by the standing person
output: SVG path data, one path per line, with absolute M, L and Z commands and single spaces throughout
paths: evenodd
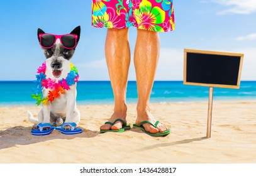
M 172 31 L 174 7 L 172 0 L 92 0 L 92 26 Z

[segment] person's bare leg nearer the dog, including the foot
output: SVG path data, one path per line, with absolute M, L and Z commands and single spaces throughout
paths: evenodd
M 128 70 L 130 66 L 130 46 L 128 41 L 128 28 L 123 30 L 108 29 L 105 43 L 105 55 L 108 65 L 109 77 L 114 94 L 114 113 L 109 119 L 124 119 L 126 121 L 126 87 Z M 121 121 L 113 126 L 103 124 L 100 129 L 121 129 Z

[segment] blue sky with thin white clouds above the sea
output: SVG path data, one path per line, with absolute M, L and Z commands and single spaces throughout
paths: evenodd
M 155 80 L 183 80 L 184 48 L 244 53 L 242 80 L 256 80 L 255 0 L 174 0 L 175 30 L 160 35 Z M 71 62 L 80 80 L 109 80 L 106 29 L 91 26 L 91 0 L 1 0 L 0 80 L 34 80 L 45 56 L 37 29 L 70 33 L 81 26 Z M 129 30 L 133 56 L 136 28 Z M 128 80 L 136 80 L 131 57 Z

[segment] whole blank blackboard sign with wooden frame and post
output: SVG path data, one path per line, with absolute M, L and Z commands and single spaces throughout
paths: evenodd
M 184 50 L 184 84 L 209 87 L 207 138 L 211 138 L 213 87 L 239 89 L 242 65 L 242 53 Z

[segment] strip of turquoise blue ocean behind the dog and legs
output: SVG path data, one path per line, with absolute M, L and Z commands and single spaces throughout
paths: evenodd
M 31 98 L 32 81 L 0 81 L 0 106 L 36 106 Z M 150 102 L 208 101 L 209 87 L 184 85 L 182 81 L 155 81 Z M 137 102 L 136 81 L 128 81 L 126 101 Z M 213 100 L 256 101 L 256 81 L 242 81 L 240 89 L 214 87 Z M 79 81 L 77 104 L 113 104 L 109 81 Z

